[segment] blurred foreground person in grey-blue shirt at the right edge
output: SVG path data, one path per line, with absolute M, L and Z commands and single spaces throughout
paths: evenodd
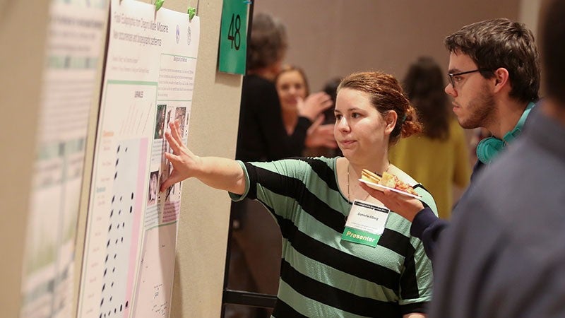
M 458 204 L 429 317 L 565 317 L 565 1 L 542 8 L 546 96 Z

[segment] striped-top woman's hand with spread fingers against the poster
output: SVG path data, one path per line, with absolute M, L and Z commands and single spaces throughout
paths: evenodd
M 171 175 L 161 184 L 160 191 L 167 189 L 177 182 L 194 177 L 194 168 L 200 158 L 192 153 L 189 148 L 184 146 L 179 129 L 179 121 L 169 123 L 170 131 L 165 132 L 165 138 L 173 153 L 165 153 L 165 158 L 172 163 L 173 170 Z

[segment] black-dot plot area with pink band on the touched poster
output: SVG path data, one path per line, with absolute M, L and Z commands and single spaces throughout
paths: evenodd
M 88 254 L 83 274 L 89 278 L 83 314 L 129 317 L 143 225 L 148 140 L 129 139 L 112 148 L 106 187 L 94 196 Z M 101 184 L 102 185 L 102 184 Z M 94 215 L 95 214 L 95 215 Z

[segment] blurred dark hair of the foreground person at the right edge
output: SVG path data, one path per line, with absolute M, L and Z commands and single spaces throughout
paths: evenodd
M 565 103 L 565 1 L 551 1 L 545 11 L 541 36 L 544 84 L 547 95 Z M 565 107 L 565 106 L 564 106 Z

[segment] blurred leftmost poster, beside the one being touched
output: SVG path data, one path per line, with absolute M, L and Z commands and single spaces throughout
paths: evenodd
M 100 90 L 97 68 L 107 6 L 105 0 L 54 0 L 49 7 L 21 317 L 75 314 L 76 226 L 88 115 Z

